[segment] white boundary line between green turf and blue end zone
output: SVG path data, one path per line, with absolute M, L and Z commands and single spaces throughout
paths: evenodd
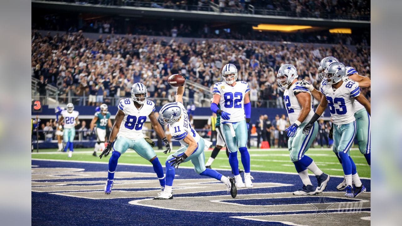
M 78 162 L 78 163 L 109 164 L 109 162 L 91 162 L 91 161 L 78 161 L 78 160 L 56 160 L 56 159 L 40 159 L 40 158 L 32 158 L 31 160 L 49 161 L 49 162 Z M 119 163 L 119 164 L 120 165 L 125 165 L 125 166 L 148 166 L 148 167 L 153 167 L 152 164 L 134 164 L 134 163 Z M 166 166 L 162 165 L 162 167 L 166 167 Z M 180 166 L 180 168 L 194 169 L 194 167 L 189 167 L 189 166 Z M 214 169 L 215 170 L 220 170 L 220 171 L 232 171 L 231 169 L 224 169 L 224 168 L 214 168 Z M 252 172 L 299 175 L 298 173 L 289 173 L 289 172 L 281 172 L 281 171 L 259 171 L 259 170 L 253 170 Z M 312 173 L 309 173 L 308 175 L 315 176 Z M 331 175 L 331 177 L 343 178 L 343 176 L 332 176 L 332 175 Z M 368 178 L 368 177 L 360 177 L 360 179 L 371 180 L 371 178 Z

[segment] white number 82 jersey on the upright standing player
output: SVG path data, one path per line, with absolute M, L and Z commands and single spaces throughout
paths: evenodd
M 245 118 L 244 115 L 244 96 L 250 92 L 247 82 L 238 81 L 235 86 L 230 86 L 225 82 L 217 82 L 213 85 L 213 94 L 221 95 L 219 104 L 222 111 L 230 114 L 229 120 L 221 118 L 221 123 L 238 122 Z

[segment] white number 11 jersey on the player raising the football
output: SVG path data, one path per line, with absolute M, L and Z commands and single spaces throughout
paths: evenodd
M 174 102 L 181 108 L 181 117 L 179 120 L 174 122 L 172 125 L 169 124 L 170 135 L 176 140 L 180 142 L 182 146 L 188 145 L 183 139 L 189 134 L 193 136 L 195 142 L 199 142 L 201 137 L 198 133 L 191 127 L 191 123 L 189 120 L 189 115 L 187 115 L 186 108 L 181 102 Z

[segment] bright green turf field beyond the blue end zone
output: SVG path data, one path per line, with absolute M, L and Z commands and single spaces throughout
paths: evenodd
M 174 153 L 178 147 L 173 147 Z M 32 158 L 37 159 L 57 159 L 57 160 L 81 160 L 81 161 L 94 161 L 94 162 L 108 162 L 109 156 L 99 159 L 99 157 L 92 156 L 92 148 L 76 148 L 72 158 L 67 157 L 66 152 L 57 152 L 55 149 L 43 149 L 39 150 L 39 153 L 33 152 Z M 252 148 L 250 152 L 250 164 L 251 171 L 277 171 L 277 172 L 289 172 L 296 173 L 293 163 L 289 160 L 289 151 L 285 149 L 256 149 Z M 366 159 L 359 152 L 357 148 L 351 149 L 351 157 L 356 164 L 357 172 L 360 177 L 370 177 L 370 167 L 367 165 Z M 98 155 L 100 152 L 98 152 Z M 168 155 L 165 155 L 162 151 L 156 151 L 159 160 L 164 166 L 164 161 Z M 317 166 L 329 175 L 343 176 L 342 166 L 339 164 L 334 152 L 329 148 L 310 148 L 306 153 L 310 156 Z M 205 152 L 205 161 L 211 156 L 211 150 Z M 242 168 L 240 153 L 238 154 L 239 167 Z M 119 163 L 134 163 L 134 164 L 150 164 L 147 160 L 139 156 L 133 150 L 128 150 L 119 158 Z M 185 162 L 180 166 L 192 166 L 191 162 Z M 180 167 L 179 166 L 179 167 Z M 230 169 L 228 158 L 224 150 L 221 150 L 212 164 L 212 168 Z M 311 173 L 311 172 L 309 172 Z

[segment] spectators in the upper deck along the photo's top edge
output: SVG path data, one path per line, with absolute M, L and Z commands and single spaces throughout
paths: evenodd
M 213 11 L 209 0 L 53 0 L 115 6 Z M 211 0 L 221 12 L 369 20 L 367 0 Z M 250 7 L 252 6 L 252 7 Z M 362 17 L 365 16 L 365 17 Z

